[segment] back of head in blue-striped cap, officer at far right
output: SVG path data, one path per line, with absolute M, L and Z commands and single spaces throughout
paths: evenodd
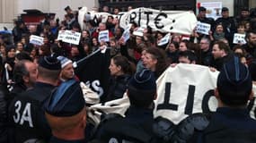
M 252 78 L 237 56 L 224 64 L 217 78 L 217 89 L 226 105 L 247 103 L 252 92 Z

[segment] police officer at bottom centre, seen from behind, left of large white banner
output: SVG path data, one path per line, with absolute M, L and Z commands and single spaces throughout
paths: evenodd
M 156 97 L 154 73 L 150 70 L 137 72 L 128 84 L 130 106 L 125 118 L 115 116 L 103 120 L 96 139 L 103 142 L 151 142 L 153 133 L 153 108 Z

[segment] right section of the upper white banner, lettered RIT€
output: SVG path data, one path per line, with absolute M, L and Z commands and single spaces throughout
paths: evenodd
M 139 27 L 148 25 L 153 30 L 184 35 L 190 35 L 197 25 L 196 15 L 192 11 L 159 11 L 144 7 L 124 13 L 120 18 L 120 26 L 125 29 L 132 21 Z

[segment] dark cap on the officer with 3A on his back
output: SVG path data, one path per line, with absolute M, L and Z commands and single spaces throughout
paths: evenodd
M 60 62 L 54 56 L 42 56 L 39 60 L 39 65 L 48 70 L 61 70 Z

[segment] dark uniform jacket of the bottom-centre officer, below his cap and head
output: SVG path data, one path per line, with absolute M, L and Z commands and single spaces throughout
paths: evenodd
M 115 117 L 100 124 L 96 139 L 102 142 L 154 142 L 153 111 L 130 106 L 126 117 Z

